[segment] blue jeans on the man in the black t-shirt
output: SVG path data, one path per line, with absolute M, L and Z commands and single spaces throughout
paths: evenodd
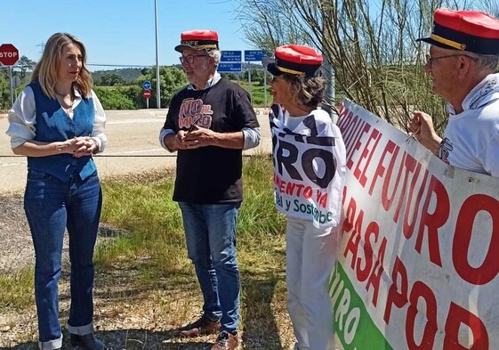
M 179 202 L 187 252 L 194 263 L 203 293 L 203 311 L 221 321 L 221 330 L 237 331 L 239 322 L 239 268 L 236 225 L 240 203 L 192 204 Z

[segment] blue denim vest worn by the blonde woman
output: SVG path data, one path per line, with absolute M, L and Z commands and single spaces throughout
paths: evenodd
M 82 98 L 69 118 L 60 103 L 44 94 L 38 82 L 31 83 L 36 103 L 36 141 L 64 142 L 78 136 L 90 136 L 93 130 L 95 111 L 92 98 Z M 75 158 L 61 153 L 47 157 L 28 157 L 28 169 L 43 171 L 66 183 L 71 176 L 82 180 L 92 175 L 97 167 L 91 156 Z

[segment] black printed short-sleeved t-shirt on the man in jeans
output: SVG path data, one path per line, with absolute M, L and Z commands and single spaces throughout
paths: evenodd
M 173 95 L 165 129 L 178 133 L 195 121 L 216 133 L 259 126 L 249 94 L 224 78 L 205 90 L 184 87 Z M 179 150 L 173 200 L 202 204 L 243 200 L 242 162 L 242 150 L 215 146 Z

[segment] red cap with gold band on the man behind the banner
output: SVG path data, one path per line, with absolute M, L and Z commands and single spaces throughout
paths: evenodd
M 499 54 L 499 20 L 487 12 L 438 9 L 433 24 L 431 36 L 417 41 L 445 49 Z

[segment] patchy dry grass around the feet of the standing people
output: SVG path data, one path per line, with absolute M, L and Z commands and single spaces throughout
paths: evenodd
M 271 176 L 267 176 L 270 159 L 262 157 L 246 167 L 251 167 L 247 171 L 252 174 L 245 175 L 251 178 L 245 183 L 248 195 L 237 239 L 242 283 L 240 348 L 291 349 L 294 336 L 286 313 L 286 250 L 280 230 L 284 218 L 273 208 Z M 202 299 L 185 251 L 180 213 L 171 201 L 171 181 L 171 171 L 165 171 L 107 180 L 104 185 L 94 326 L 109 350 L 209 349 L 215 338 L 176 337 L 178 327 L 197 319 Z M 14 273 L 0 280 L 5 283 L 0 287 L 16 290 L 12 286 L 20 278 L 25 281 L 22 285 L 32 285 L 32 274 Z M 65 336 L 68 278 L 63 273 L 60 281 Z M 0 306 L 0 349 L 36 349 L 32 293 L 32 288 L 20 289 L 9 305 Z M 70 348 L 65 341 L 62 349 Z

